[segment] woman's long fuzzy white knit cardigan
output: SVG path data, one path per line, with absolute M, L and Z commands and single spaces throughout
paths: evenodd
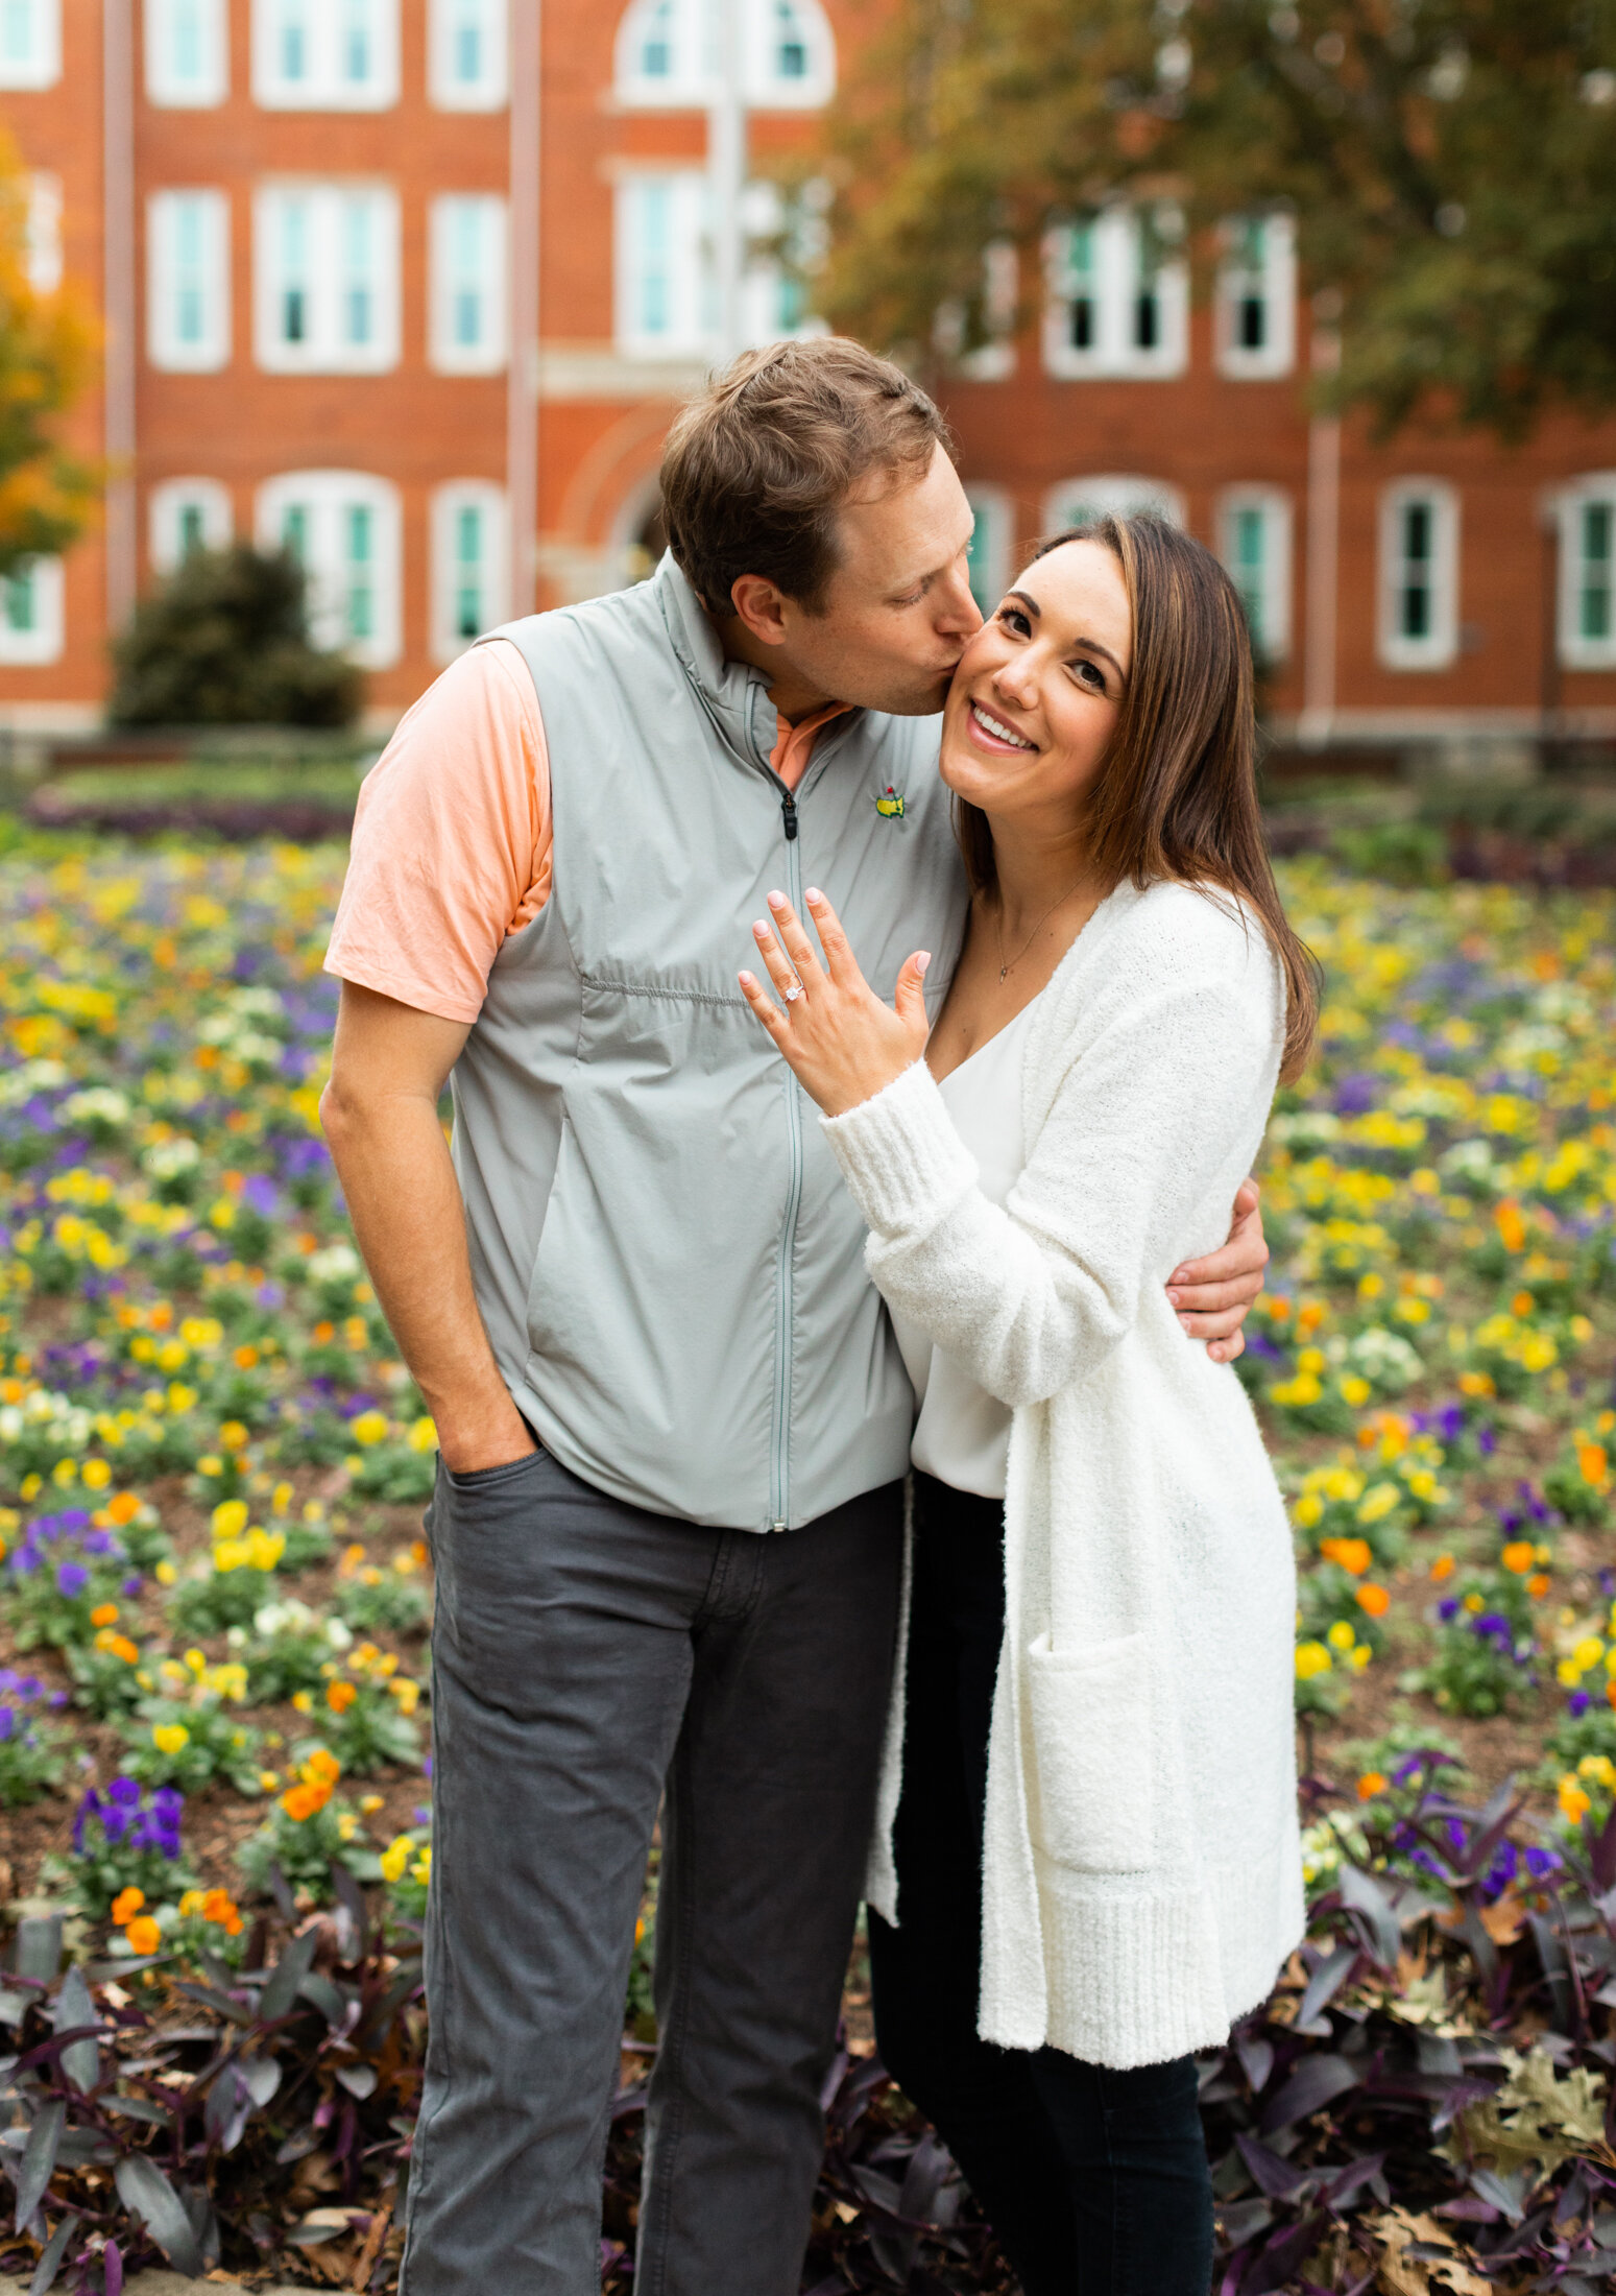
M 980 1991 L 1005 2048 L 1214 2046 L 1302 1938 L 1290 1527 L 1240 1380 L 1164 1290 L 1228 1231 L 1283 1029 L 1256 918 L 1122 886 L 1033 1017 L 1003 1210 L 925 1063 L 824 1125 L 879 1290 L 1012 1405 Z M 888 1919 L 898 1676 L 868 1883 Z

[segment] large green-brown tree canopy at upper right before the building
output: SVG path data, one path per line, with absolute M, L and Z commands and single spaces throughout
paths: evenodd
M 1517 436 L 1616 406 L 1616 0 L 902 0 L 838 106 L 819 301 L 987 340 L 982 248 L 1171 195 L 1201 271 L 1285 207 L 1341 315 L 1320 390 Z

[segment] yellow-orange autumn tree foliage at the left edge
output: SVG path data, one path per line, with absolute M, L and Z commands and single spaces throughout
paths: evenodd
M 34 280 L 32 186 L 0 138 L 0 576 L 67 549 L 96 510 L 101 473 L 60 436 L 96 367 L 96 328 L 73 287 Z

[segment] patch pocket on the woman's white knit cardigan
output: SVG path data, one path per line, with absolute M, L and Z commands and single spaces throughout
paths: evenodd
M 1141 1874 L 1155 1860 L 1152 1669 L 1143 1635 L 1026 1653 L 1038 1768 L 1033 1837 L 1079 1874 Z

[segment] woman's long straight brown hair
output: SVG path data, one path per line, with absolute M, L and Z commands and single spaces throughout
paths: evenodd
M 1285 974 L 1285 1058 L 1297 1077 L 1318 1031 L 1318 960 L 1290 930 L 1258 808 L 1251 634 L 1212 551 L 1166 519 L 1095 519 L 1040 544 L 1100 542 L 1122 567 L 1134 668 L 1116 737 L 1088 797 L 1088 852 L 1106 886 L 1162 879 L 1217 886 L 1262 921 Z M 973 893 L 994 893 L 987 815 L 955 799 L 955 836 Z

